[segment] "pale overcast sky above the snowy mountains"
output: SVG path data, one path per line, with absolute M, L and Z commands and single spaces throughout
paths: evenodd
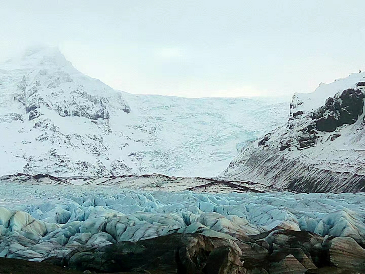
M 0 60 L 58 46 L 136 94 L 280 96 L 365 69 L 363 0 L 4 0 Z

